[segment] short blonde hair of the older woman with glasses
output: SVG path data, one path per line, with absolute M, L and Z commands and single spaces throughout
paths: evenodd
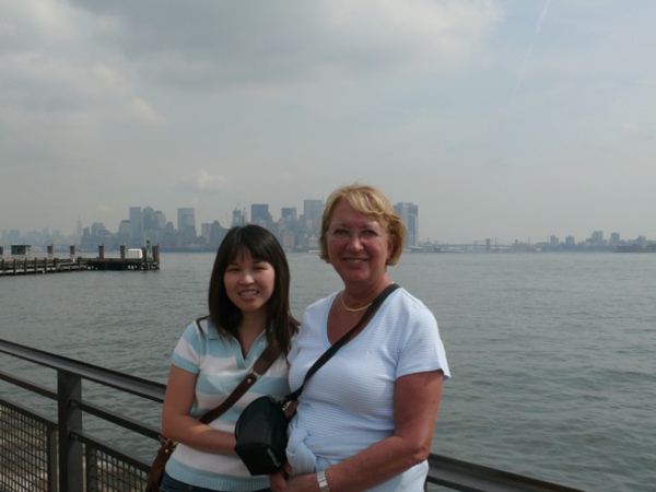
M 337 188 L 330 194 L 326 201 L 324 215 L 321 218 L 321 233 L 319 235 L 319 257 L 328 260 L 328 227 L 332 220 L 332 212 L 337 204 L 347 200 L 353 209 L 363 215 L 374 219 L 380 224 L 391 237 L 393 251 L 387 265 L 396 265 L 403 253 L 406 243 L 406 224 L 394 211 L 391 203 L 378 188 L 370 185 L 354 183 Z

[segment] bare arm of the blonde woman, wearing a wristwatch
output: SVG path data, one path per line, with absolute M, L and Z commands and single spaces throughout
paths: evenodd
M 395 433 L 326 470 L 331 492 L 371 489 L 426 459 L 435 431 L 442 371 L 399 377 L 395 388 Z M 348 437 L 347 437 L 348 438 Z M 273 490 L 318 491 L 316 473 L 292 477 L 286 487 L 282 476 L 272 477 Z

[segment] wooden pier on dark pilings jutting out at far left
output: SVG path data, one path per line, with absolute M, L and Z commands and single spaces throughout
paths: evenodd
M 119 258 L 105 258 L 104 247 L 98 247 L 96 258 L 84 258 L 75 256 L 74 246 L 71 246 L 69 258 L 55 258 L 50 247 L 45 257 L 20 256 L 5 257 L 0 255 L 0 277 L 3 276 L 25 276 L 38 273 L 61 273 L 85 270 L 124 270 L 124 271 L 143 271 L 160 269 L 160 247 L 152 247 L 152 255 L 149 256 L 150 247 L 141 249 L 130 249 L 126 254 L 125 246 L 120 248 Z

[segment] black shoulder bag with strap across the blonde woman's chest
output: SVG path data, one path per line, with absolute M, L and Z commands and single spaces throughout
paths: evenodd
M 358 324 L 316 360 L 295 391 L 282 400 L 270 395 L 256 398 L 244 409 L 235 425 L 235 453 L 250 475 L 271 475 L 282 468 L 288 443 L 286 429 L 293 413 L 290 409 L 295 408 L 293 403 L 301 396 L 307 379 L 335 355 L 398 286 L 396 283 L 389 284 L 378 294 Z

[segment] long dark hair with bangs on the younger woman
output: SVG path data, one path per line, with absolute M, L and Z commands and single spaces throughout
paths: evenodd
M 230 333 L 239 338 L 242 311 L 227 296 L 223 277 L 227 266 L 245 251 L 254 260 L 267 261 L 273 267 L 273 293 L 267 302 L 267 339 L 270 344 L 278 344 L 283 353 L 288 353 L 291 338 L 298 331 L 298 321 L 290 311 L 290 268 L 280 243 L 265 227 L 255 224 L 232 227 L 221 242 L 210 279 L 210 319 L 220 335 Z

